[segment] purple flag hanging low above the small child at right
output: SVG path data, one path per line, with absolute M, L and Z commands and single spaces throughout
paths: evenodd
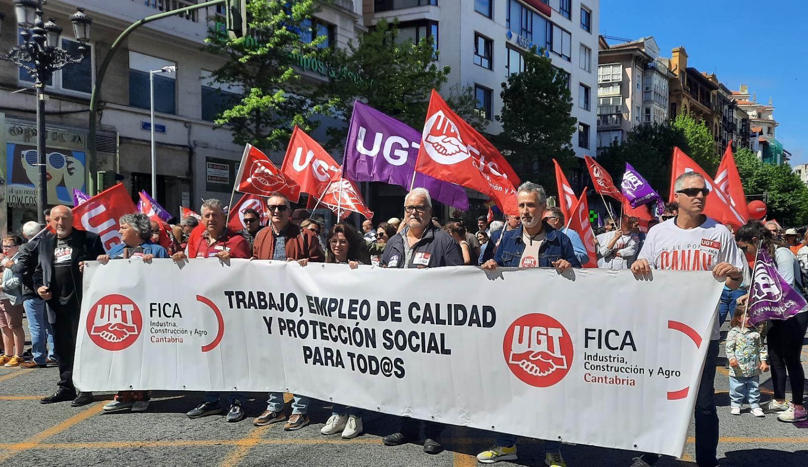
M 767 319 L 788 319 L 805 308 L 806 299 L 780 276 L 772 257 L 761 248 L 752 272 L 749 322 L 756 326 Z

